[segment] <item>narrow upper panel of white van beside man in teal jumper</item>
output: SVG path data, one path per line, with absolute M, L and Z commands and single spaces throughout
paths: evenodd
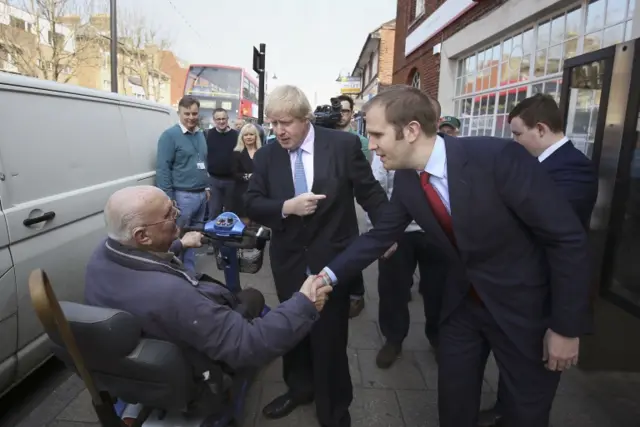
M 162 132 L 175 123 L 168 111 L 121 106 L 129 144 L 133 173 L 156 170 L 156 151 Z

